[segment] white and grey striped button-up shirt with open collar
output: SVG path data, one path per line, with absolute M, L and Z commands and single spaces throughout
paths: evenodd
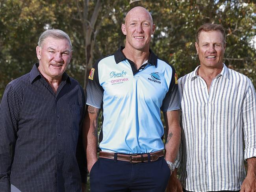
M 239 190 L 243 158 L 256 157 L 254 87 L 223 64 L 208 93 L 198 68 L 178 80 L 182 144 L 175 164 L 181 168 L 180 181 L 188 191 Z

